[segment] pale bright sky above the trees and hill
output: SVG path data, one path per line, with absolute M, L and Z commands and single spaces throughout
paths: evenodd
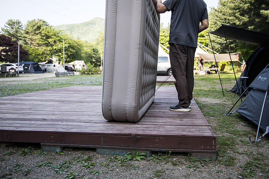
M 218 6 L 218 0 L 204 0 L 207 10 Z M 0 27 L 8 19 L 19 19 L 22 24 L 43 19 L 52 26 L 79 24 L 96 17 L 105 18 L 106 0 L 2 0 Z M 171 12 L 161 14 L 164 27 L 170 22 Z

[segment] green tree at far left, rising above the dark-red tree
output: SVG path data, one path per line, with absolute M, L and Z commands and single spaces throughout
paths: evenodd
M 19 41 L 22 40 L 22 22 L 18 19 L 9 19 L 7 20 L 4 27 L 1 27 L 1 33 L 5 36 L 11 37 L 13 40 Z

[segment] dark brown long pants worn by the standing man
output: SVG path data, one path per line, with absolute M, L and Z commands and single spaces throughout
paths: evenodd
M 193 65 L 196 48 L 172 43 L 169 45 L 171 70 L 178 92 L 178 105 L 189 107 L 194 86 Z

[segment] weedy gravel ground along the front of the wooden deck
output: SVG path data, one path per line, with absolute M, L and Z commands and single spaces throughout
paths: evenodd
M 9 146 L 2 143 L 0 148 L 0 177 L 1 178 L 70 178 L 70 172 L 76 172 L 74 178 L 135 178 L 135 179 L 157 179 L 157 178 L 241 178 L 240 173 L 244 171 L 240 165 L 249 161 L 250 157 L 240 155 L 229 151 L 230 155 L 236 157 L 234 166 L 225 166 L 220 161 L 195 160 L 190 158 L 187 153 L 171 153 L 164 152 L 160 156 L 159 161 L 154 159 L 142 159 L 141 161 L 127 161 L 126 163 L 118 163 L 117 159 L 112 161 L 113 155 L 98 155 L 94 149 L 87 148 L 65 148 L 61 153 L 47 152 L 47 154 L 38 155 L 40 146 L 33 144 L 30 149 L 31 153 L 19 155 L 22 149 L 28 149 L 31 144 L 17 143 Z M 268 153 L 268 143 L 262 141 L 260 146 L 254 144 L 238 145 L 238 152 L 250 152 L 252 156 L 259 156 L 261 153 Z M 6 152 L 13 151 L 12 155 L 4 155 Z M 251 152 L 255 151 L 255 152 Z M 158 153 L 155 153 L 157 156 Z M 87 160 L 90 156 L 92 160 Z M 120 158 L 120 156 L 117 156 Z M 110 161 L 109 161 L 110 160 Z M 85 169 L 84 161 L 88 164 L 95 163 L 92 168 Z M 268 158 L 266 161 L 268 163 Z M 61 164 L 59 168 L 59 164 Z M 197 165 L 197 166 L 196 166 Z M 58 166 L 58 168 L 57 168 Z M 56 169 L 59 169 L 58 172 Z M 27 172 L 28 170 L 28 172 Z M 59 171 L 62 173 L 59 173 Z M 91 171 L 97 171 L 98 175 L 90 174 Z M 103 172 L 103 173 L 101 173 Z M 255 169 L 255 178 L 268 178 L 267 172 L 261 169 Z M 245 176 L 243 178 L 246 178 Z

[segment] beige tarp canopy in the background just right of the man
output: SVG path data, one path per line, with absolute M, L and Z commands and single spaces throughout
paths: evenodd
M 232 61 L 238 61 L 240 52 L 231 53 Z M 201 58 L 204 59 L 204 61 L 231 61 L 229 53 L 223 53 L 223 54 L 202 54 L 198 53 L 198 55 L 201 56 Z M 214 57 L 215 55 L 215 57 Z

